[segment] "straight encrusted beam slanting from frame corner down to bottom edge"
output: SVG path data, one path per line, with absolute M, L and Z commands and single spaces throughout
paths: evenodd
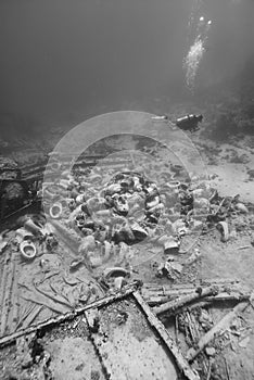
M 199 375 L 192 370 L 192 368 L 190 367 L 190 365 L 181 354 L 180 350 L 178 349 L 178 346 L 176 345 L 176 343 L 174 342 L 174 340 L 172 339 L 172 337 L 169 335 L 169 333 L 167 332 L 163 324 L 157 319 L 157 317 L 152 313 L 149 305 L 144 302 L 140 292 L 136 291 L 134 293 L 134 297 L 139 304 L 139 306 L 141 307 L 141 309 L 143 311 L 143 313 L 145 314 L 151 326 L 156 329 L 160 337 L 166 344 L 167 349 L 173 354 L 178 368 L 185 375 L 185 377 L 188 380 L 200 380 Z

